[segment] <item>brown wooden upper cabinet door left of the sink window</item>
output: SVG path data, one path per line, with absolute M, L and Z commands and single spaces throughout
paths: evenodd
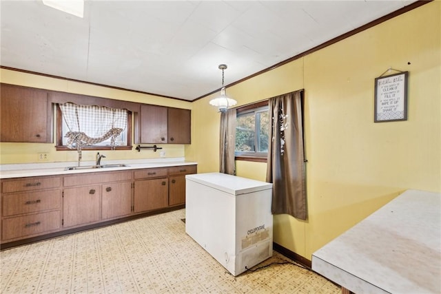
M 1 84 L 0 91 L 0 141 L 51 143 L 48 92 L 8 84 Z

